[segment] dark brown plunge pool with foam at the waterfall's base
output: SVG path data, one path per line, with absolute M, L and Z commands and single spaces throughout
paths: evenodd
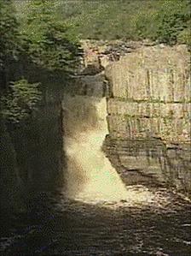
M 146 188 L 132 186 L 144 197 Z M 37 193 L 25 214 L 1 219 L 1 255 L 190 255 L 190 203 L 162 188 L 153 199 L 86 204 Z

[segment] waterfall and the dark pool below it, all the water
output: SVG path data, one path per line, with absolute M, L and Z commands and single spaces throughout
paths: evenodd
M 105 101 L 66 97 L 63 109 L 67 187 L 34 188 L 26 212 L 3 214 L 1 255 L 191 255 L 190 201 L 149 182 L 127 186 L 101 152 Z

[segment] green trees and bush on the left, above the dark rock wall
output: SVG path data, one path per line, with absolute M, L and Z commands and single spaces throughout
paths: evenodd
M 56 18 L 56 3 L 26 1 L 26 13 L 15 15 L 13 1 L 0 0 L 0 75 L 6 78 L 1 77 L 0 114 L 9 122 L 29 116 L 42 98 L 38 81 L 28 82 L 25 74 L 20 74 L 20 80 L 9 80 L 12 61 L 22 63 L 27 59 L 39 69 L 65 74 L 71 74 L 78 64 L 78 39 L 67 33 L 67 22 Z

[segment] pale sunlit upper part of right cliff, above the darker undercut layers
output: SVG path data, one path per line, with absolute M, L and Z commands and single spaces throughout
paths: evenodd
M 185 47 L 142 47 L 106 69 L 112 137 L 190 140 L 189 55 Z

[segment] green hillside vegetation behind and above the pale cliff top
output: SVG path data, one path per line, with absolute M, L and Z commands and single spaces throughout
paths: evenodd
M 151 39 L 173 45 L 190 29 L 188 0 L 59 2 L 57 16 L 71 23 L 70 31 L 82 39 Z

